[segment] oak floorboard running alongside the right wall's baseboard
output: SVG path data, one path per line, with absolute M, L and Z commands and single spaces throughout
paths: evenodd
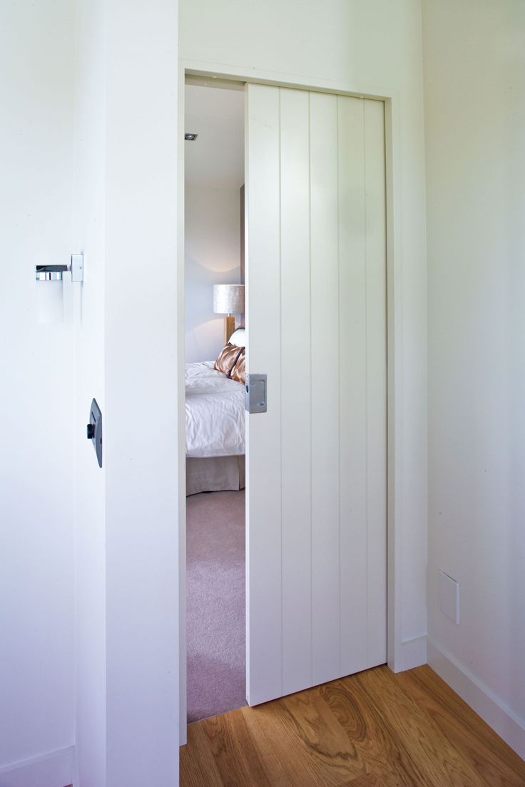
M 523 760 L 430 667 L 416 667 L 400 673 L 398 678 L 405 692 L 431 716 L 449 744 L 471 761 L 483 785 L 525 785 Z

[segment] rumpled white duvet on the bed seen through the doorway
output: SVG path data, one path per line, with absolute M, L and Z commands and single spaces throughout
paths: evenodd
M 213 368 L 186 364 L 186 455 L 245 453 L 244 386 Z

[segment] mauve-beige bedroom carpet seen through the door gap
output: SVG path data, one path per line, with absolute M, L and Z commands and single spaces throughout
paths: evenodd
M 187 497 L 189 722 L 246 705 L 245 493 Z

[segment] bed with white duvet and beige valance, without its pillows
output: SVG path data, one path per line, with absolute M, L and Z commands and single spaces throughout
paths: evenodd
M 244 386 L 213 368 L 186 364 L 186 493 L 245 486 Z

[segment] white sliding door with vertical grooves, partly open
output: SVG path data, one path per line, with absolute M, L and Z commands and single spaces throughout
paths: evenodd
M 247 693 L 386 661 L 383 103 L 246 86 Z

